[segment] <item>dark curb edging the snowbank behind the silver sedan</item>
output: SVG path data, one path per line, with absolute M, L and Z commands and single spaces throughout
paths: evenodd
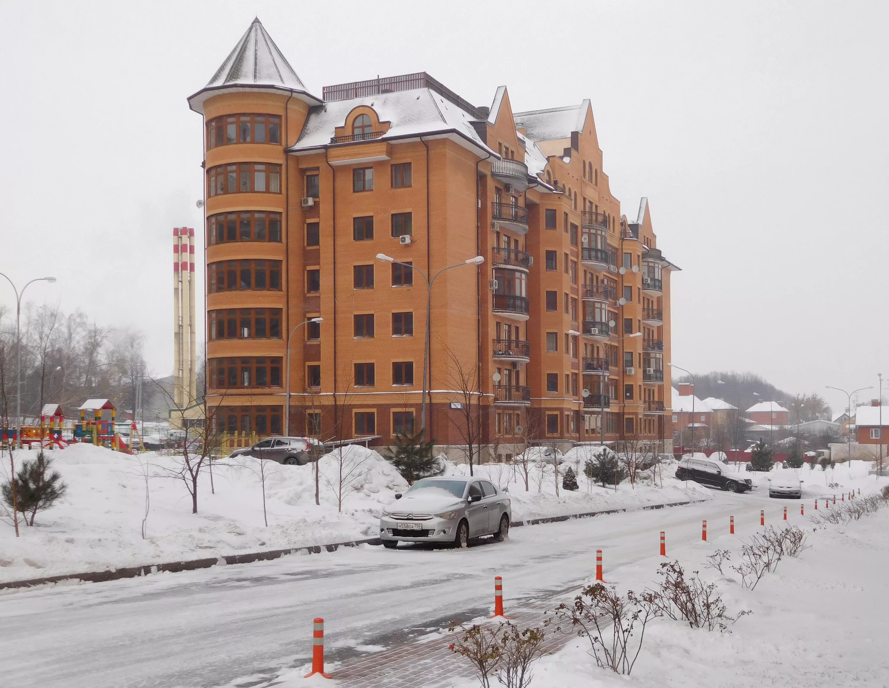
M 655 508 L 682 507 L 686 504 L 697 504 L 707 500 L 690 500 L 690 501 L 674 501 L 669 504 L 650 504 L 645 507 L 628 507 L 628 508 L 609 508 L 603 511 L 587 511 L 582 514 L 568 514 L 567 516 L 544 516 L 542 518 L 528 518 L 524 521 L 513 521 L 509 524 L 510 528 L 517 528 L 521 525 L 538 525 L 552 524 L 561 521 L 570 521 L 573 518 L 590 518 L 592 516 L 602 516 L 605 514 L 621 514 L 627 511 L 648 511 Z M 196 571 L 196 569 L 209 569 L 211 566 L 225 564 L 251 564 L 252 562 L 268 561 L 270 559 L 278 559 L 285 555 L 300 554 L 321 554 L 324 549 L 328 552 L 335 552 L 341 547 L 357 547 L 358 545 L 380 545 L 380 538 L 366 538 L 364 540 L 348 540 L 346 542 L 334 542 L 329 545 L 310 545 L 308 547 L 296 547 L 285 549 L 269 549 L 265 552 L 251 552 L 241 555 L 227 556 L 210 556 L 205 559 L 190 559 L 187 561 L 167 562 L 165 564 L 146 564 L 143 566 L 126 566 L 119 569 L 108 569 L 107 571 L 95 571 L 86 573 L 62 573 L 57 576 L 46 576 L 44 578 L 32 578 L 28 580 L 8 580 L 0 582 L 0 590 L 10 588 L 30 588 L 36 585 L 46 585 L 47 583 L 58 583 L 62 580 L 82 580 L 86 583 L 103 583 L 108 580 L 120 580 L 123 578 L 139 578 L 147 576 L 149 573 L 177 573 L 180 571 Z

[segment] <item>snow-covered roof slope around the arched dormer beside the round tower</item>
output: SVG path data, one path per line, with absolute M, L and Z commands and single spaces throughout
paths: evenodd
M 379 139 L 374 139 L 375 141 L 455 132 L 474 147 L 499 157 L 485 145 L 470 124 L 476 121 L 476 116 L 428 88 L 380 93 L 350 100 L 334 100 L 311 108 L 300 133 L 300 139 L 289 148 L 289 152 L 307 151 L 330 145 L 335 128 L 345 124 L 348 113 L 361 105 L 373 108 L 380 117 L 380 122 L 390 123 L 388 132 Z

